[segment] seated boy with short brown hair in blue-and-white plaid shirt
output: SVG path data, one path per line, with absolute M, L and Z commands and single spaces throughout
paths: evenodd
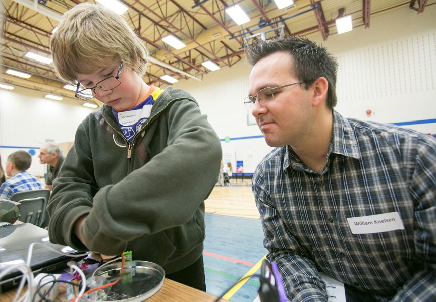
M 44 189 L 39 179 L 27 172 L 31 163 L 32 156 L 26 151 L 15 151 L 8 156 L 5 172 L 12 178 L 0 186 L 0 198 L 10 199 L 17 192 Z

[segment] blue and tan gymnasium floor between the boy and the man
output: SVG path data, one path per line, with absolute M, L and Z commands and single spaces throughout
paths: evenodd
M 258 273 L 267 250 L 251 187 L 240 185 L 215 187 L 206 200 L 203 258 L 208 293 L 226 293 L 232 302 L 252 302 L 260 285 L 257 278 L 241 282 L 240 288 L 232 285 L 247 273 Z

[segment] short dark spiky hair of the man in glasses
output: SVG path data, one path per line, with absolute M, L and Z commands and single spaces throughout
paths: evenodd
M 327 49 L 315 42 L 301 37 L 273 38 L 269 40 L 255 40 L 245 48 L 245 57 L 254 66 L 262 58 L 273 53 L 283 51 L 289 53 L 294 60 L 294 70 L 291 71 L 300 81 L 303 88 L 309 86 L 319 77 L 324 77 L 329 83 L 327 91 L 327 105 L 333 109 L 337 103 L 336 74 L 338 63 Z

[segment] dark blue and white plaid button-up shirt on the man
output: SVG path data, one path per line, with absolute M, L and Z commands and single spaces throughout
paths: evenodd
M 268 259 L 293 301 L 326 301 L 319 273 L 374 300 L 436 301 L 436 140 L 333 112 L 321 174 L 289 147 L 257 166 Z M 353 234 L 347 218 L 398 213 L 398 228 Z

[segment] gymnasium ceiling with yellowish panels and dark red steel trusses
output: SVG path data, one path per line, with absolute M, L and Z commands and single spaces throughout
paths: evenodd
M 92 2 L 92 0 L 91 0 Z M 295 5 L 278 9 L 272 0 L 121 0 L 129 7 L 126 20 L 146 43 L 150 65 L 144 80 L 166 86 L 164 74 L 178 80 L 211 76 L 201 65 L 210 60 L 221 68 L 232 68 L 243 59 L 244 45 L 252 36 L 321 35 L 328 40 L 337 34 L 335 19 L 351 15 L 353 28 L 371 26 L 371 18 L 400 8 L 419 14 L 435 0 L 295 0 Z M 49 37 L 61 16 L 79 4 L 78 0 L 2 0 L 2 41 L 0 45 L 0 84 L 74 98 L 63 88 L 53 65 L 27 58 L 29 51 L 50 56 Z M 225 9 L 239 4 L 251 21 L 237 25 Z M 186 47 L 177 50 L 162 41 L 168 34 L 181 39 Z M 31 74 L 21 79 L 6 74 L 15 69 Z M 76 99 L 77 100 L 77 99 Z M 79 100 L 77 100 L 79 102 Z

